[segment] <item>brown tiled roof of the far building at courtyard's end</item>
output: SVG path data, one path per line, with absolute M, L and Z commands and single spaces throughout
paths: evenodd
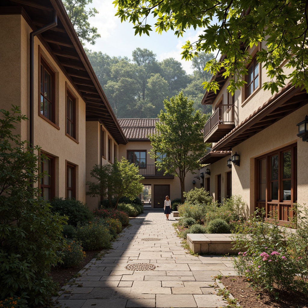
M 156 132 L 155 123 L 159 119 L 118 119 L 124 135 L 129 139 L 148 139 Z

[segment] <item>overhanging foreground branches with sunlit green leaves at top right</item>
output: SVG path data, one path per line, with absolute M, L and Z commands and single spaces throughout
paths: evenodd
M 172 30 L 178 37 L 185 30 L 204 29 L 196 42 L 187 41 L 182 52 L 184 59 L 192 59 L 198 52 L 210 53 L 219 50 L 225 57 L 213 59 L 206 69 L 215 75 L 225 68 L 224 76 L 232 77 L 228 90 L 234 93 L 241 88 L 247 75 L 246 65 L 251 59 L 249 47 L 266 41 L 266 48 L 257 52 L 257 61 L 262 62 L 270 81 L 263 83 L 272 94 L 278 92 L 285 82 L 304 86 L 308 91 L 308 13 L 307 1 L 157 1 L 115 0 L 121 21 L 129 20 L 135 26 L 135 34 L 149 35 L 152 30 L 147 16 L 153 14 L 158 33 Z M 213 22 L 213 18 L 217 23 Z M 287 60 L 284 72 L 282 63 Z M 216 92 L 216 81 L 205 81 L 208 91 Z

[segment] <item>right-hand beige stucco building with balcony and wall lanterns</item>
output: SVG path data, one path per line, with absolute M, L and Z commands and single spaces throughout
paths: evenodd
M 213 113 L 204 127 L 204 141 L 212 147 L 202 163 L 209 165 L 200 171 L 205 189 L 218 202 L 241 195 L 250 213 L 264 208 L 266 218 L 276 213 L 284 224 L 293 216 L 294 203 L 308 203 L 308 143 L 297 136 L 297 124 L 308 114 L 308 95 L 291 84 L 274 95 L 264 91 L 269 78 L 255 58 L 261 48 L 265 42 L 249 51 L 245 87 L 231 96 L 222 69 L 213 77 L 219 91 L 202 99 Z

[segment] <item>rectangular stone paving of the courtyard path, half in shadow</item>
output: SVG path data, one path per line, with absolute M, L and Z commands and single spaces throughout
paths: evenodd
M 54 300 L 69 308 L 227 306 L 215 294 L 212 279 L 236 275 L 230 257 L 188 254 L 172 226 L 175 219 L 169 217 L 166 221 L 162 211 L 145 210 L 131 219 L 132 226 L 113 242 L 113 249 L 93 259 Z M 140 270 L 125 268 L 132 263 Z M 155 269 L 147 270 L 149 264 Z

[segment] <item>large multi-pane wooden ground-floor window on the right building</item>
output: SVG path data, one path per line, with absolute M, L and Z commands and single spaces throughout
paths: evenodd
M 293 144 L 256 159 L 256 207 L 265 217 L 289 221 L 297 200 L 297 147 Z

